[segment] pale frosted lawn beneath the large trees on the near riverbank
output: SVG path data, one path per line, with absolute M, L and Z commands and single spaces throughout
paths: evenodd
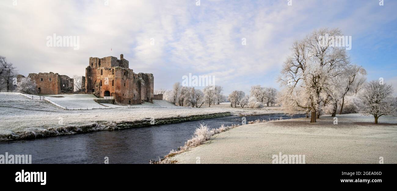
M 397 118 L 360 114 L 330 115 L 311 124 L 295 118 L 247 124 L 222 132 L 189 151 L 171 157 L 177 163 L 264 163 L 272 156 L 305 155 L 310 163 L 397 163 Z

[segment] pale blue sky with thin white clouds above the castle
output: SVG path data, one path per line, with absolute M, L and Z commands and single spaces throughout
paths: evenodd
M 72 77 L 89 57 L 123 54 L 135 73 L 154 74 L 154 89 L 191 73 L 214 76 L 225 95 L 249 94 L 279 89 L 295 40 L 339 28 L 352 36 L 351 63 L 397 95 L 396 10 L 396 0 L 0 0 L 0 55 L 25 76 Z M 78 37 L 78 50 L 49 46 L 54 34 Z

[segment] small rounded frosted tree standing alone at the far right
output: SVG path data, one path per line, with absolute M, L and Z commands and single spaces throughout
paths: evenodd
M 359 111 L 363 115 L 373 115 L 375 123 L 383 115 L 394 115 L 397 110 L 396 98 L 392 96 L 393 87 L 383 82 L 372 80 L 364 87 L 360 98 L 363 104 Z

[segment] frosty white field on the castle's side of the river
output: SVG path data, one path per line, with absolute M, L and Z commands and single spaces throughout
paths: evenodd
M 71 101 L 71 99 L 57 99 L 57 101 L 59 100 L 64 100 L 66 102 Z M 81 100 L 87 101 L 90 99 Z M 66 102 L 64 104 L 66 104 Z M 169 103 L 164 102 L 165 101 L 156 101 L 155 103 L 160 106 L 170 106 Z M 148 108 L 139 107 L 138 105 L 134 108 L 118 107 L 112 109 L 64 110 L 47 101 L 27 99 L 23 95 L 0 94 L 0 136 L 2 134 L 10 134 L 18 131 L 40 132 L 48 128 L 81 126 L 98 121 L 118 122 L 122 120 L 141 120 L 144 118 L 185 117 L 189 115 L 221 113 L 225 111 L 231 112 L 232 115 L 283 113 L 280 110 L 236 109 L 216 106 L 203 106 L 202 108 L 179 108 L 175 106 L 173 106 L 173 108 Z

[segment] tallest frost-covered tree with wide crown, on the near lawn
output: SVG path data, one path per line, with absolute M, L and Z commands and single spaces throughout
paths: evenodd
M 281 105 L 291 113 L 300 109 L 310 111 L 310 122 L 316 122 L 321 94 L 328 88 L 329 80 L 349 64 L 345 48 L 333 46 L 333 39 L 324 36 L 343 34 L 339 29 L 320 29 L 294 42 L 279 77 L 284 88 L 278 99 Z

